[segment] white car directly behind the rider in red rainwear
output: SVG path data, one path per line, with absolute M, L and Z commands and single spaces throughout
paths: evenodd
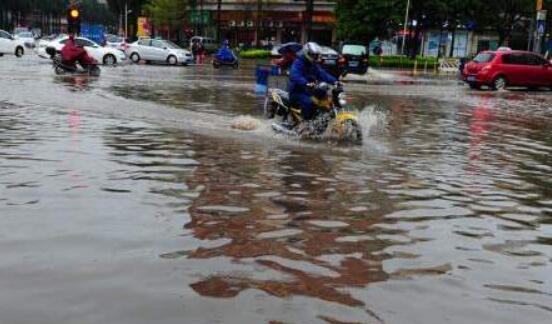
M 42 58 L 50 58 L 50 55 L 46 53 L 46 48 L 53 47 L 56 49 L 56 51 L 61 51 L 65 43 L 69 40 L 69 37 L 61 37 L 56 38 L 53 41 L 51 41 L 46 46 L 41 45 L 36 51 L 38 56 Z M 90 39 L 84 38 L 84 37 L 76 37 L 75 43 L 78 46 L 83 46 L 88 55 L 93 57 L 96 61 L 99 63 L 103 63 L 105 65 L 114 65 L 118 63 L 122 63 L 126 61 L 126 55 L 124 52 L 116 49 L 116 48 L 109 48 L 109 47 L 102 47 Z M 44 46 L 44 47 L 42 47 Z

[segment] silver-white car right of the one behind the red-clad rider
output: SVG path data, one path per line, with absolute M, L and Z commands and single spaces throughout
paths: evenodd
M 180 48 L 171 41 L 161 39 L 141 39 L 128 46 L 127 54 L 134 63 L 166 62 L 170 65 L 188 65 L 194 61 L 192 53 Z

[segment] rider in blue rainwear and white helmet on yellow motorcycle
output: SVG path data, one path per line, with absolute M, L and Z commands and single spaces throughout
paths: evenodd
M 318 63 L 322 49 L 316 43 L 310 42 L 303 47 L 303 54 L 291 66 L 289 72 L 288 91 L 293 104 L 301 107 L 303 118 L 309 120 L 315 112 L 312 100 L 312 89 L 317 82 L 335 84 L 338 80 L 326 72 Z

